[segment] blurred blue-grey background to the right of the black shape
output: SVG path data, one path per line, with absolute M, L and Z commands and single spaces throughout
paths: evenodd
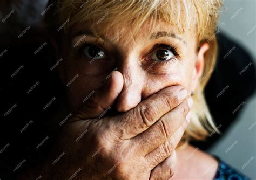
M 241 44 L 256 62 L 256 0 L 224 0 L 224 4 L 225 10 L 221 12 L 219 21 L 220 32 Z M 256 179 L 255 93 L 250 100 L 245 101 L 238 121 L 208 152 Z

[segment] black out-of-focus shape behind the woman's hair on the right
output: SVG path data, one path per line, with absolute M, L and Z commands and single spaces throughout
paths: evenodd
M 248 52 L 224 34 L 217 34 L 218 59 L 212 77 L 205 88 L 210 112 L 225 135 L 228 127 L 237 119 L 247 98 L 255 91 L 255 64 Z M 243 120 L 245 121 L 245 120 Z M 207 149 L 220 135 L 214 133 L 206 142 L 192 142 Z

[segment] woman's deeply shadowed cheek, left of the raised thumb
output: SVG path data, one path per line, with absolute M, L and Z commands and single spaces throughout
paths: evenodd
M 97 61 L 89 63 L 85 60 L 74 60 L 72 56 L 67 57 L 64 65 L 64 86 L 70 110 L 75 112 L 93 90 L 96 91 L 104 84 L 105 78 L 113 71 L 114 66 L 107 63 L 99 66 Z M 76 75 L 78 77 L 67 87 L 66 84 Z

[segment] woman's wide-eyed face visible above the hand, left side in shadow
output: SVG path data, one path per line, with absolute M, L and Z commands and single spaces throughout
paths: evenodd
M 205 47 L 198 51 L 194 32 L 179 34 L 175 26 L 159 23 L 149 33 L 145 24 L 132 39 L 129 26 L 113 29 L 104 44 L 79 24 L 64 45 L 59 72 L 67 85 L 71 110 L 103 85 L 113 70 L 123 74 L 118 110 L 126 111 L 167 86 L 182 85 L 194 91 L 203 71 Z

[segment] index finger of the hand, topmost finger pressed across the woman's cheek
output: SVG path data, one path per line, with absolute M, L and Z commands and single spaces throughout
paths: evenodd
M 152 94 L 136 107 L 122 115 L 119 127 L 122 139 L 131 139 L 157 122 L 161 116 L 170 112 L 187 98 L 187 90 L 180 85 L 170 86 Z

